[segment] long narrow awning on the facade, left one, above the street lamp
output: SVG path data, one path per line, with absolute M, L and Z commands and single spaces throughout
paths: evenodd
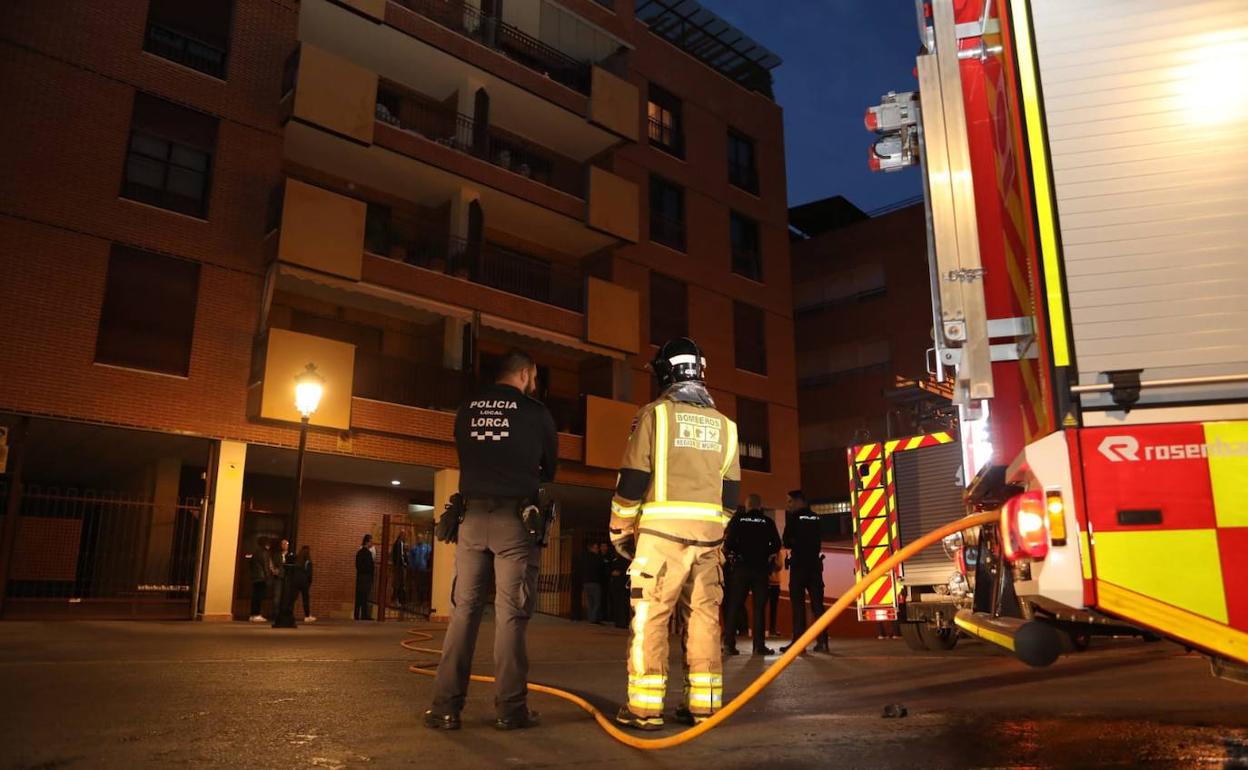
M 417 323 L 433 323 L 442 318 L 457 318 L 470 323 L 473 319 L 473 312 L 466 307 L 291 265 L 278 265 L 276 288 Z

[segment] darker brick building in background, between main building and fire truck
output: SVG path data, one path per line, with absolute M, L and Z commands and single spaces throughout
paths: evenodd
M 926 382 L 932 311 L 924 205 L 867 216 L 835 196 L 794 207 L 790 222 L 801 478 L 811 500 L 825 504 L 816 509 L 831 512 L 849 500 L 846 447 L 909 436 L 931 406 L 947 403 L 947 393 Z

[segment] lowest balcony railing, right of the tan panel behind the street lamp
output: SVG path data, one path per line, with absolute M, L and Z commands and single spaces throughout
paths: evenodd
M 473 373 L 441 364 L 356 351 L 352 396 L 422 409 L 454 411 L 473 391 Z

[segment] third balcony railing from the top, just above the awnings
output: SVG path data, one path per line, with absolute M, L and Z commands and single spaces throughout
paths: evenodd
M 406 237 L 386 223 L 368 230 L 366 248 L 383 257 L 578 313 L 584 308 L 584 275 L 577 267 L 489 242 L 433 233 Z

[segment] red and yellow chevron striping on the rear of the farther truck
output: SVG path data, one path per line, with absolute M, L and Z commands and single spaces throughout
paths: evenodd
M 849 448 L 855 579 L 861 579 L 900 548 L 894 454 L 952 441 L 950 433 L 940 432 Z M 900 592 L 901 578 L 896 570 L 872 583 L 859 597 L 859 620 L 896 619 Z

